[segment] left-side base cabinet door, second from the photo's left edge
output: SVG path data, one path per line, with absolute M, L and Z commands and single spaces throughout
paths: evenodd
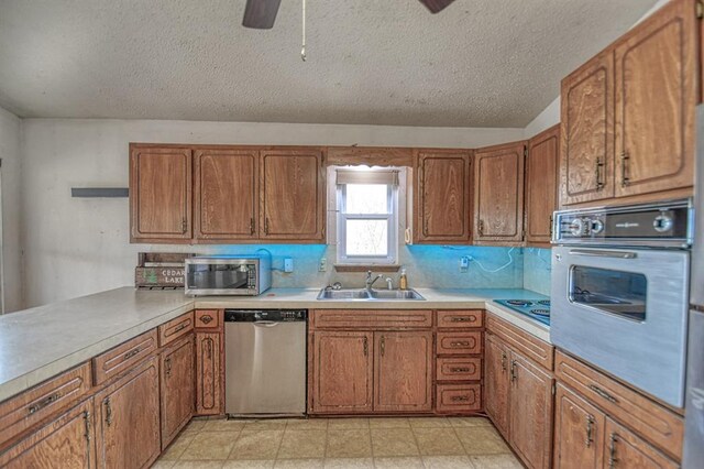
M 95 403 L 98 466 L 150 467 L 162 450 L 157 357 L 100 391 Z

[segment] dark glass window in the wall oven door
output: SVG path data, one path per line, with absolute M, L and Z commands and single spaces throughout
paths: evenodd
M 573 265 L 569 285 L 572 303 L 646 320 L 648 280 L 642 274 Z

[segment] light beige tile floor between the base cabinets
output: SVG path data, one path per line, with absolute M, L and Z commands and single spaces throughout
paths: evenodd
M 482 417 L 195 419 L 154 468 L 521 468 Z

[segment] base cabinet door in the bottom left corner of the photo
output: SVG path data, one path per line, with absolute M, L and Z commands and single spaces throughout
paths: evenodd
M 0 467 L 96 468 L 94 403 L 84 401 L 0 455 Z

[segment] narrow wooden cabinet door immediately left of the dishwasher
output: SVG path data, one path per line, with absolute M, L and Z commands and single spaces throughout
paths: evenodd
M 196 334 L 196 415 L 221 415 L 223 408 L 220 332 Z

